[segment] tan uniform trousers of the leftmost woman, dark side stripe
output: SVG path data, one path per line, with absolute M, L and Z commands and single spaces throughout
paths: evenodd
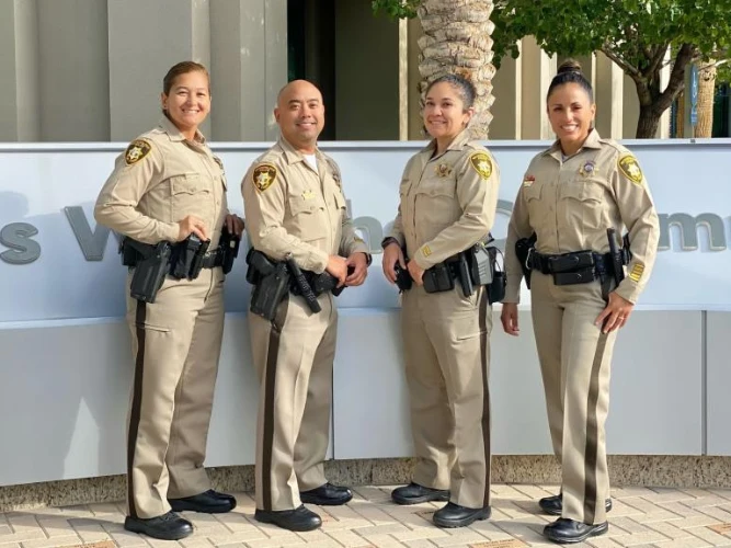
M 135 375 L 128 416 L 127 505 L 134 517 L 210 489 L 203 467 L 224 334 L 224 273 L 165 279 L 153 304 L 127 292 Z

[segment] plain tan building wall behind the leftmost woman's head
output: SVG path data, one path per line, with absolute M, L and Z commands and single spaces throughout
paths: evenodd
M 126 141 L 167 70 L 209 68 L 214 140 L 267 140 L 287 80 L 287 0 L 0 0 L 2 141 Z

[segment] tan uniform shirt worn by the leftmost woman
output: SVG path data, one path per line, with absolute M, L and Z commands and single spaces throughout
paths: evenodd
M 186 140 L 167 117 L 116 159 L 94 208 L 98 222 L 145 243 L 176 241 L 178 221 L 195 215 L 212 250 L 227 214 L 224 164 L 203 135 Z

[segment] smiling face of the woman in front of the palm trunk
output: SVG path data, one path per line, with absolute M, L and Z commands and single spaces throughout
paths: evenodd
M 448 145 L 467 127 L 473 109 L 465 109 L 459 89 L 449 82 L 439 82 L 426 92 L 424 127 L 437 145 Z

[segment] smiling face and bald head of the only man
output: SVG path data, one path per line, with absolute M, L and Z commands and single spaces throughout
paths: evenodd
M 315 152 L 324 127 L 322 94 L 310 82 L 295 80 L 279 92 L 274 117 L 282 136 L 297 150 Z

